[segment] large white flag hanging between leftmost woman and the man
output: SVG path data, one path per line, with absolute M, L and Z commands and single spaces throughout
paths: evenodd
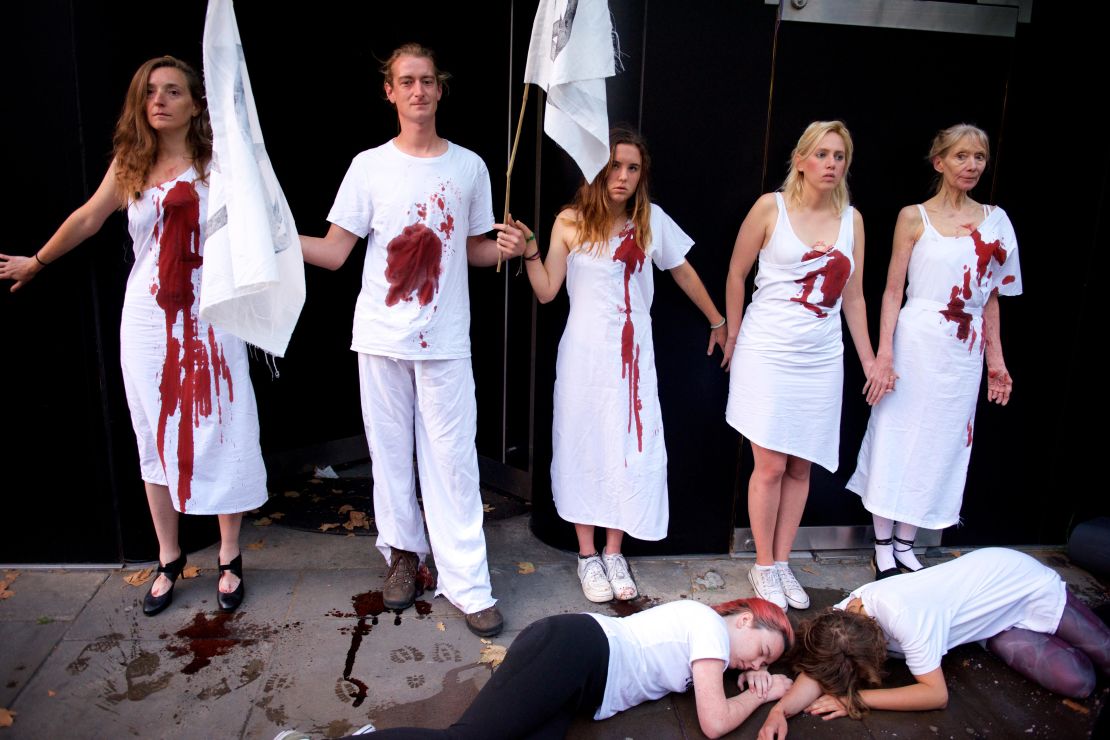
M 213 151 L 201 316 L 281 357 L 304 305 L 304 259 L 262 142 L 231 0 L 208 6 L 204 87 Z

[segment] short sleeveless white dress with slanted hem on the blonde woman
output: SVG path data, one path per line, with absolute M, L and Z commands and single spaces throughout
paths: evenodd
M 836 242 L 810 246 L 794 233 L 781 193 L 759 251 L 756 292 L 740 324 L 725 418 L 766 449 L 836 472 L 840 459 L 844 341 L 840 296 L 855 270 L 854 209 Z

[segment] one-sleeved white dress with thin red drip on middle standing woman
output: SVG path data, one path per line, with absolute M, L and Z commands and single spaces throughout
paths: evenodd
M 552 494 L 567 521 L 657 540 L 667 536 L 667 449 L 650 265 L 679 266 L 694 241 L 655 204 L 650 224 L 646 255 L 628 223 L 603 247 L 567 256 L 571 313 L 556 363 Z

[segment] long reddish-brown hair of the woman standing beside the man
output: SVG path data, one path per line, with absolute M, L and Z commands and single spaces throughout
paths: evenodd
M 652 158 L 647 153 L 644 138 L 629 129 L 614 129 L 609 132 L 609 163 L 594 178 L 594 182 L 583 180 L 574 194 L 574 202 L 568 206 L 577 211 L 575 226 L 575 249 L 586 253 L 604 249 L 609 241 L 609 226 L 616 215 L 609 203 L 608 176 L 616 164 L 617 146 L 629 144 L 639 150 L 639 183 L 636 192 L 625 204 L 625 210 L 633 224 L 636 244 L 645 253 L 652 245 L 652 196 L 649 181 L 652 174 Z

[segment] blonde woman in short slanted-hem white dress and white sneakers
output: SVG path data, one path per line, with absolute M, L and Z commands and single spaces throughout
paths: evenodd
M 839 460 L 844 344 L 840 306 L 870 381 L 861 275 L 864 220 L 848 204 L 851 136 L 839 121 L 811 123 L 790 158 L 781 193 L 751 207 L 736 237 L 726 288 L 730 359 L 726 419 L 751 443 L 748 515 L 756 595 L 796 609 L 809 597 L 790 570 L 813 463 Z M 743 315 L 745 281 L 758 259 L 756 293 Z M 743 323 L 741 323 L 743 318 Z

